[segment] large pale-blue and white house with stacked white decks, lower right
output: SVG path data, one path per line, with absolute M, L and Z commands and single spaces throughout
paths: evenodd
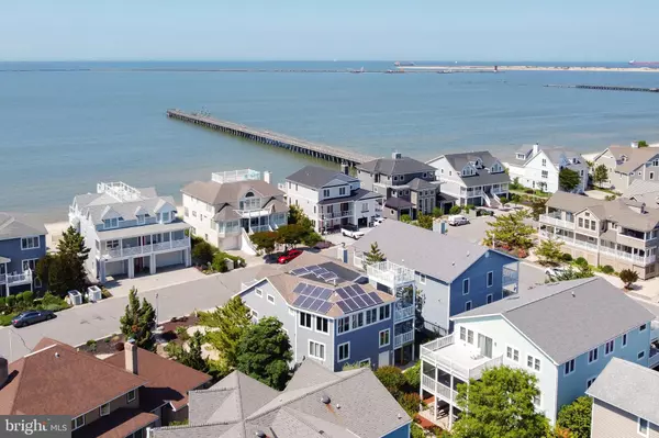
M 453 425 L 457 385 L 500 366 L 538 379 L 533 402 L 551 423 L 561 406 L 583 395 L 612 358 L 644 367 L 655 315 L 602 278 L 549 283 L 453 317 L 454 334 L 421 347 L 421 395 L 434 395 Z M 654 352 L 654 349 L 652 349 Z

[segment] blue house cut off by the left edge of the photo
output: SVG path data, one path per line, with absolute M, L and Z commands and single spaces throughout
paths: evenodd
M 24 214 L 0 213 L 0 296 L 40 288 L 33 273 L 46 255 L 46 228 Z

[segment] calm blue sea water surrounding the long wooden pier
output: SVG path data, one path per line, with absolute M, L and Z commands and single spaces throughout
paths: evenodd
M 392 68 L 391 63 L 360 61 L 0 63 L 0 211 L 63 220 L 72 196 L 93 191 L 101 180 L 156 186 L 179 198 L 182 184 L 208 179 L 212 171 L 250 167 L 282 180 L 310 162 L 168 120 L 168 108 L 204 109 L 375 156 L 399 150 L 420 159 L 483 148 L 505 153 L 533 142 L 585 153 L 639 138 L 659 141 L 655 93 L 543 87 L 658 87 L 659 74 L 132 70 L 362 66 Z

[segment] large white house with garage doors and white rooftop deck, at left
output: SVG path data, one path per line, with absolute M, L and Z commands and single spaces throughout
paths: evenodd
M 158 196 L 154 188 L 100 182 L 97 193 L 74 198 L 69 223 L 90 248 L 87 270 L 101 282 L 190 266 L 190 226 L 177 217 L 174 198 Z

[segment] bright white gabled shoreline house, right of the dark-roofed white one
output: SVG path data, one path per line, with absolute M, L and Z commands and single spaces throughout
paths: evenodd
M 585 159 L 579 153 L 563 147 L 540 147 L 537 143 L 533 146 L 524 145 L 504 165 L 511 180 L 518 178 L 518 182 L 529 189 L 549 193 L 561 190 L 558 175 L 563 168 L 579 173 L 581 180 L 573 192 L 583 193 L 588 186 Z

